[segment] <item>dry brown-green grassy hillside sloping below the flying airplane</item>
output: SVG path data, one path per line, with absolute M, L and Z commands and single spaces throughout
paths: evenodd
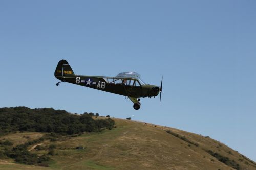
M 132 120 L 114 120 L 116 127 L 112 130 L 31 145 L 29 151 L 38 155 L 48 154 L 52 148 L 49 167 L 18 164 L 6 158 L 0 159 L 0 169 L 256 169 L 255 162 L 209 137 Z M 43 135 L 12 133 L 0 140 L 9 140 L 15 146 Z

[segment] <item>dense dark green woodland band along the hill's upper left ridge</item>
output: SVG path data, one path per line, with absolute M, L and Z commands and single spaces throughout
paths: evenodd
M 0 108 L 0 133 L 29 131 L 72 135 L 93 132 L 103 127 L 111 129 L 114 126 L 112 119 L 94 120 L 92 116 L 94 113 L 77 116 L 65 110 L 54 110 L 53 108 Z

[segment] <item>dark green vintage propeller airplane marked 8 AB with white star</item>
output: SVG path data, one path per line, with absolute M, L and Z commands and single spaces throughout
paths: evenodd
M 160 93 L 160 103 L 162 94 L 163 77 L 161 86 L 144 83 L 140 79 L 140 74 L 136 72 L 121 72 L 115 77 L 105 76 L 84 76 L 76 75 L 66 60 L 60 60 L 54 72 L 54 76 L 61 82 L 68 82 L 85 87 L 94 88 L 114 94 L 124 95 L 133 102 L 135 110 L 140 109 L 140 98 L 156 97 Z

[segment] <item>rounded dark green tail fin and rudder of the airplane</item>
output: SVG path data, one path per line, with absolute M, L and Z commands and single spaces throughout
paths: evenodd
M 68 61 L 60 60 L 54 72 L 54 76 L 57 79 L 61 80 L 63 76 L 71 76 L 71 75 L 74 75 L 74 71 L 70 67 Z

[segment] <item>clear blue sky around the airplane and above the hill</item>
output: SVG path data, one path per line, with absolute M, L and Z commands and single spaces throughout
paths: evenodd
M 53 107 L 178 128 L 256 161 L 256 1 L 0 1 L 0 107 Z M 162 102 L 55 84 L 135 71 Z

